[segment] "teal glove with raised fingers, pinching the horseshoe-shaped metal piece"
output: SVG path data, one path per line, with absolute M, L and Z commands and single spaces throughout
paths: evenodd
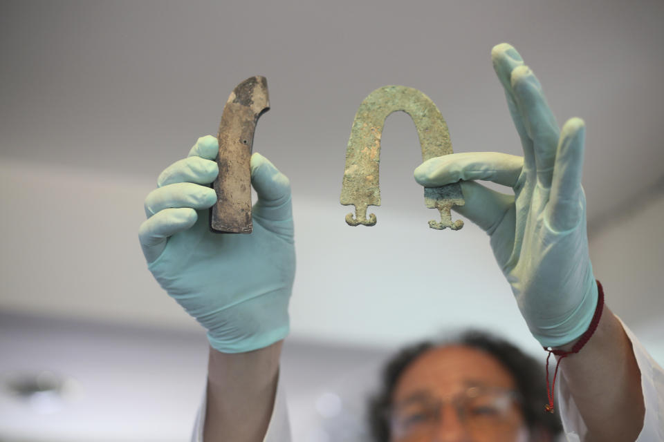
M 495 46 L 492 61 L 524 156 L 457 153 L 432 158 L 415 170 L 415 179 L 423 186 L 464 180 L 465 206 L 455 210 L 490 236 L 533 336 L 544 347 L 559 347 L 586 331 L 598 299 L 581 187 L 584 122 L 572 118 L 562 131 L 558 128 L 540 82 L 512 46 Z M 510 186 L 514 195 L 472 180 Z

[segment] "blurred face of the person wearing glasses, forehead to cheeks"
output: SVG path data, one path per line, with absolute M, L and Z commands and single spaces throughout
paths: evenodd
M 472 347 L 428 350 L 392 395 L 391 442 L 515 442 L 526 438 L 510 373 Z

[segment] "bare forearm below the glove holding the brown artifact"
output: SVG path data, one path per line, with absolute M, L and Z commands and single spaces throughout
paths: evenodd
M 226 354 L 210 347 L 205 442 L 261 442 L 272 416 L 282 342 Z

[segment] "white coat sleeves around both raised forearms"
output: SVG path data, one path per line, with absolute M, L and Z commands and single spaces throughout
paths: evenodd
M 636 442 L 664 441 L 664 369 L 660 367 L 646 352 L 636 336 L 623 324 L 627 336 L 631 340 L 636 363 L 641 372 L 641 387 L 643 388 L 643 400 L 645 403 L 645 419 L 643 429 L 638 435 Z M 584 440 L 587 427 L 581 419 L 578 408 L 574 403 L 566 385 L 564 376 L 559 376 L 557 385 L 557 406 L 560 408 L 560 417 L 564 433 L 569 442 L 580 442 Z M 205 423 L 205 402 L 199 408 L 194 425 L 192 442 L 203 442 L 203 424 Z M 270 425 L 263 442 L 290 442 L 291 427 L 288 424 L 288 410 L 286 410 L 286 398 L 281 380 L 277 383 L 277 396 L 275 407 L 270 418 Z

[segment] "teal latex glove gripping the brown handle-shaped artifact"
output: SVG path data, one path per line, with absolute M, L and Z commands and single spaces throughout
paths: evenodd
M 265 157 L 251 157 L 258 194 L 250 234 L 208 229 L 219 174 L 216 138 L 199 138 L 189 156 L 167 167 L 145 199 L 138 231 L 148 268 L 208 330 L 219 352 L 267 347 L 288 334 L 288 300 L 295 278 L 291 184 Z

